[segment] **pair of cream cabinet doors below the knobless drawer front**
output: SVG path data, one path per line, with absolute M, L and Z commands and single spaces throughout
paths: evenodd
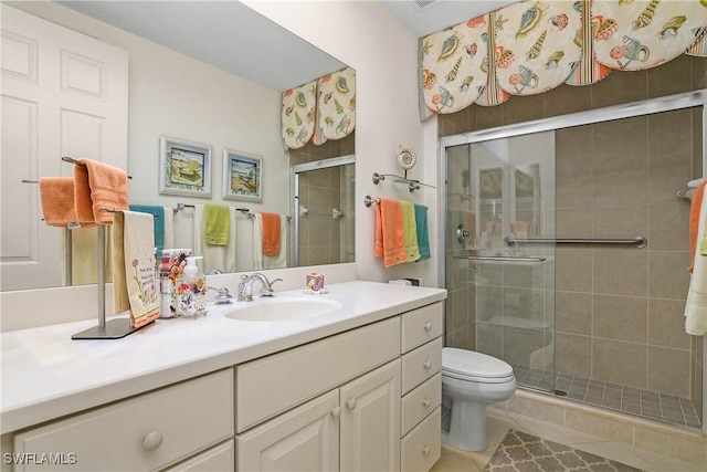
M 400 360 L 236 439 L 241 471 L 400 469 Z

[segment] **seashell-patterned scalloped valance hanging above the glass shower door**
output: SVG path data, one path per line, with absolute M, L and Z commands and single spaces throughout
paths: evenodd
M 420 39 L 421 117 L 707 56 L 706 28 L 707 0 L 514 3 Z

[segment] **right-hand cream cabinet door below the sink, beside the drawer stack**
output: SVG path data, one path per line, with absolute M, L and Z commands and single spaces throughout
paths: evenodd
M 400 360 L 341 387 L 341 470 L 400 470 Z

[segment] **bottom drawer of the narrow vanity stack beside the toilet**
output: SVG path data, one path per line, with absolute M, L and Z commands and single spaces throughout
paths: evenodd
M 401 470 L 429 471 L 442 453 L 442 407 L 418 424 L 400 444 Z

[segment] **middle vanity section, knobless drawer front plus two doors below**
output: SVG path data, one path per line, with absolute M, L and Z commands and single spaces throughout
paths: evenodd
M 395 316 L 238 366 L 236 469 L 399 470 L 399 346 Z

